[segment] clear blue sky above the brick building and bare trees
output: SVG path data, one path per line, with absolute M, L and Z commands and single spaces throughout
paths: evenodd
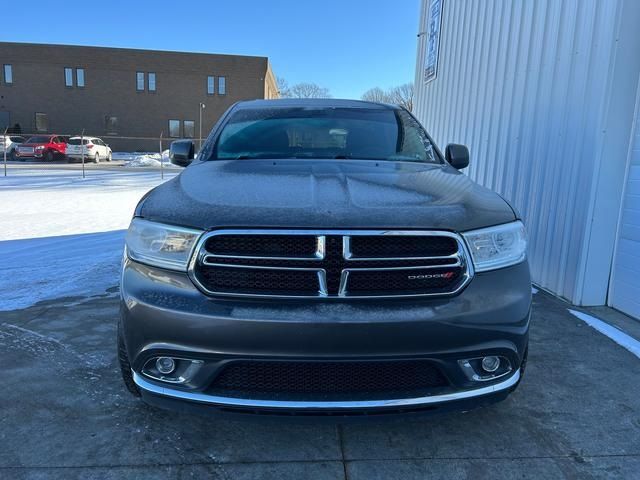
M 267 56 L 289 85 L 360 98 L 413 81 L 419 8 L 419 0 L 31 0 L 31 27 L 3 22 L 0 41 Z

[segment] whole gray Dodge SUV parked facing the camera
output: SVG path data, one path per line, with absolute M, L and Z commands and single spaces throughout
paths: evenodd
M 138 204 L 118 353 L 148 403 L 353 416 L 504 399 L 526 365 L 525 230 L 392 105 L 232 106 Z

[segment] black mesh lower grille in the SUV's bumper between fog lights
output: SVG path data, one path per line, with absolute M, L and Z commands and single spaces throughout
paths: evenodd
M 448 380 L 428 360 L 258 361 L 229 363 L 208 393 L 240 398 L 331 401 L 423 396 Z

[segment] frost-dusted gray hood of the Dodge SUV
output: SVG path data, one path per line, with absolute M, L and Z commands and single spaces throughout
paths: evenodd
M 516 218 L 498 194 L 448 165 L 369 160 L 194 162 L 149 192 L 136 215 L 203 230 L 465 231 Z

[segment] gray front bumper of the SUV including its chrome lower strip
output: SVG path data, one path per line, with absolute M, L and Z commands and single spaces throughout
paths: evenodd
M 204 296 L 186 274 L 125 260 L 122 321 L 134 381 L 150 403 L 234 411 L 350 415 L 442 405 L 470 408 L 504 398 L 520 379 L 531 305 L 526 263 L 476 274 L 458 296 L 433 299 L 252 301 Z M 159 355 L 198 359 L 205 373 L 183 385 L 143 373 Z M 461 359 L 507 358 L 511 372 L 473 381 Z M 427 359 L 450 386 L 433 394 L 380 399 L 239 398 L 208 387 L 224 365 L 243 360 Z M 176 405 L 177 404 L 177 405 Z

